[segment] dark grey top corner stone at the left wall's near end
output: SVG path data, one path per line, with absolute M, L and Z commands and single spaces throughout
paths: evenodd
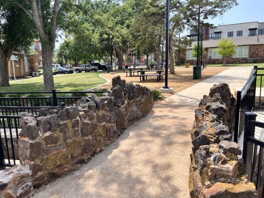
M 29 113 L 22 112 L 20 114 L 22 130 L 19 136 L 28 137 L 30 140 L 35 140 L 39 136 L 39 128 L 36 118 Z

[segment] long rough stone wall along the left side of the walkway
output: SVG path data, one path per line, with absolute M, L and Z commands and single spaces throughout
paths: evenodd
M 82 98 L 77 106 L 64 109 L 41 109 L 37 118 L 21 113 L 19 157 L 32 171 L 33 186 L 88 162 L 152 107 L 148 88 L 126 84 L 117 76 L 103 97 Z

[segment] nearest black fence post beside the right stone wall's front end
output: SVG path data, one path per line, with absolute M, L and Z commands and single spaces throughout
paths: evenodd
M 246 174 L 249 181 L 251 181 L 252 175 L 252 157 L 253 157 L 253 143 L 248 142 L 248 137 L 255 135 L 255 126 L 250 126 L 249 122 L 256 120 L 257 114 L 253 112 L 245 112 L 245 128 L 244 128 L 244 140 L 243 140 L 243 159 L 246 166 Z

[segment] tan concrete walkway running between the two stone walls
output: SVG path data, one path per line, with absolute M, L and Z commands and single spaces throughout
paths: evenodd
M 189 198 L 194 109 L 217 83 L 242 88 L 252 67 L 232 67 L 172 97 L 124 131 L 80 170 L 35 198 Z

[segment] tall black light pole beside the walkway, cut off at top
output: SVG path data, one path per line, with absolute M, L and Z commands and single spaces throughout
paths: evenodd
M 168 89 L 168 52 L 169 52 L 169 0 L 166 0 L 166 48 L 165 48 L 165 86 Z M 171 64 L 173 67 L 173 63 Z

